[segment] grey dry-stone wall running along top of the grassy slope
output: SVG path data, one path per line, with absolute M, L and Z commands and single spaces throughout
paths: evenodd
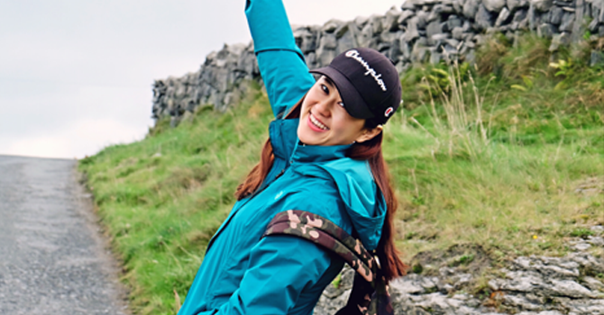
M 536 31 L 553 39 L 553 51 L 586 31 L 595 39 L 604 37 L 604 0 L 407 0 L 384 15 L 293 29 L 308 67 L 323 67 L 346 49 L 371 47 L 403 72 L 419 61 L 471 62 L 485 33 L 501 32 L 515 40 L 520 31 Z M 603 56 L 594 51 L 591 63 L 604 62 Z M 209 54 L 197 72 L 156 80 L 152 117 L 178 121 L 200 104 L 224 110 L 249 80 L 261 81 L 252 43 L 224 45 Z

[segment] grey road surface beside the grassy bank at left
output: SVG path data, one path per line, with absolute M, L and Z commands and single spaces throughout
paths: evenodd
M 76 161 L 0 156 L 0 314 L 126 314 Z

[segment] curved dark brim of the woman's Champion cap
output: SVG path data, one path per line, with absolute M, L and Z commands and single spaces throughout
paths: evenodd
M 354 87 L 348 78 L 343 76 L 340 71 L 334 67 L 319 67 L 312 69 L 309 72 L 327 76 L 334 82 L 335 88 L 338 89 L 340 97 L 342 97 L 344 109 L 346 109 L 346 112 L 350 113 L 352 117 L 361 119 L 374 117 L 373 112 L 371 112 L 368 104 L 365 103 L 365 100 L 363 100 L 361 94 L 359 94 L 359 91 L 357 91 L 356 87 Z

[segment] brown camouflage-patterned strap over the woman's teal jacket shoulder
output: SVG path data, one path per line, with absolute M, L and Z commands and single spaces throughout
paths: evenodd
M 315 213 L 288 210 L 277 213 L 270 220 L 262 237 L 286 234 L 306 238 L 334 252 L 356 272 L 348 304 L 338 315 L 392 315 L 392 304 L 384 278 L 375 259 L 342 228 Z

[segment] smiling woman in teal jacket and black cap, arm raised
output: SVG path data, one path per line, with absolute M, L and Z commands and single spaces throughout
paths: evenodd
M 180 315 L 312 313 L 343 260 L 302 238 L 261 238 L 281 211 L 333 221 L 376 250 L 387 280 L 404 274 L 381 156 L 382 125 L 400 103 L 395 67 L 375 50 L 350 49 L 313 70 L 315 82 L 280 0 L 247 1 L 246 15 L 277 119 Z

